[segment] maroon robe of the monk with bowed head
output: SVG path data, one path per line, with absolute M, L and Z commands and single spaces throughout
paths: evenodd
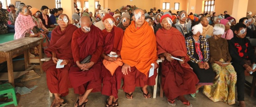
M 102 31 L 91 25 L 91 31 L 84 33 L 81 28 L 77 29 L 72 36 L 71 48 L 74 57 L 74 64 L 70 67 L 69 78 L 74 92 L 84 94 L 86 90 L 93 89 L 92 92 L 101 91 L 101 60 L 100 56 L 103 48 Z M 91 61 L 94 65 L 88 71 L 82 71 L 76 65 L 76 61 L 81 62 L 88 55 L 92 55 Z

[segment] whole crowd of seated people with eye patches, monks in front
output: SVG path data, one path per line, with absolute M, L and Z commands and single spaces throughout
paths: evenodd
M 184 95 L 196 98 L 200 87 L 212 101 L 232 105 L 237 86 L 237 101 L 245 107 L 245 76 L 256 77 L 254 47 L 247 39 L 256 38 L 256 17 L 250 12 L 236 21 L 227 11 L 224 15 L 153 9 L 121 13 L 98 4 L 94 16 L 87 8 L 81 13 L 76 9 L 72 24 L 62 8 L 51 9 L 50 17 L 46 6 L 41 11 L 25 4 L 17 11 L 13 4 L 8 8 L 10 12 L 0 12 L 9 15 L 6 23 L 14 26 L 15 39 L 44 38 L 44 53 L 52 59 L 43 64 L 55 96 L 51 107 L 66 105 L 61 97 L 68 95 L 68 88 L 79 94 L 75 107 L 85 107 L 92 92 L 109 96 L 106 107 L 118 107 L 120 88 L 127 99 L 134 99 L 135 87 L 150 99 L 147 86 L 156 84 L 159 56 L 165 57 L 161 85 L 171 106 L 177 99 L 192 107 Z M 30 52 L 37 55 L 37 51 L 35 46 Z M 63 68 L 56 68 L 59 59 Z

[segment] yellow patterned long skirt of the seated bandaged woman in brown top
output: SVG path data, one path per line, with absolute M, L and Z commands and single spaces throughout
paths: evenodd
M 223 59 L 220 62 L 225 63 Z M 203 93 L 214 102 L 223 101 L 229 105 L 235 104 L 237 73 L 234 67 L 231 64 L 221 67 L 216 63 L 212 63 L 212 68 L 216 73 L 216 77 L 213 85 L 204 86 Z

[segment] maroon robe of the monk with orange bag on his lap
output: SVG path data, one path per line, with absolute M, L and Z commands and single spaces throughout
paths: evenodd
M 110 54 L 110 52 L 116 52 L 120 55 L 122 47 L 123 30 L 113 26 L 111 32 L 107 32 L 106 29 L 102 30 L 104 35 L 103 53 Z M 107 96 L 114 96 L 118 98 L 118 89 L 121 87 L 122 79 L 122 66 L 119 66 L 114 72 L 113 76 L 108 69 L 102 64 L 102 91 L 101 94 Z

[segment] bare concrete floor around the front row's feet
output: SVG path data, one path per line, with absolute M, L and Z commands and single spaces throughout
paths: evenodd
M 0 65 L 4 66 L 4 65 Z M 24 69 L 24 61 L 15 61 L 14 62 L 14 71 L 19 69 Z M 34 69 L 37 74 L 40 74 L 39 69 Z M 6 71 L 6 70 L 2 70 Z M 17 85 L 37 85 L 38 87 L 32 91 L 32 93 L 23 95 L 18 100 L 18 107 L 50 107 L 51 102 L 54 97 L 49 96 L 49 90 L 46 85 L 46 75 L 43 73 L 42 77 L 28 80 L 25 82 L 17 83 Z M 247 77 L 248 81 L 251 82 L 251 77 Z M 63 97 L 67 101 L 66 107 L 73 107 L 75 101 L 78 97 L 77 94 L 74 94 L 73 89 L 69 89 L 70 92 L 66 97 Z M 153 93 L 153 87 L 148 87 L 151 95 Z M 245 102 L 247 107 L 256 107 L 256 98 L 249 96 L 250 90 L 245 89 Z M 137 87 L 133 93 L 134 98 L 131 100 L 126 99 L 125 94 L 122 89 L 119 89 L 119 107 L 171 107 L 167 103 L 167 98 L 164 96 L 160 98 L 159 89 L 157 90 L 156 99 L 145 99 L 143 94 L 140 91 L 140 88 Z M 237 94 L 236 94 L 237 95 Z M 255 94 L 256 95 L 256 94 Z M 196 98 L 186 95 L 185 97 L 193 105 L 193 107 L 238 107 L 238 102 L 233 105 L 224 104 L 222 101 L 213 102 L 208 99 L 203 93 L 202 88 L 200 88 L 199 93 L 196 94 Z M 88 103 L 86 107 L 105 107 L 105 101 L 108 96 L 101 95 L 101 93 L 91 93 L 88 97 Z M 236 97 L 237 99 L 237 97 Z M 181 102 L 176 100 L 176 107 L 185 107 Z M 13 105 L 7 106 L 12 107 Z

